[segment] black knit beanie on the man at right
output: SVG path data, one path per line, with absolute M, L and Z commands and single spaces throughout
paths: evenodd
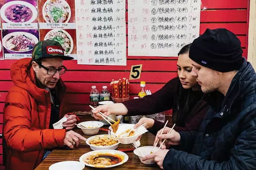
M 243 63 L 241 42 L 227 29 L 206 29 L 189 49 L 189 58 L 219 72 L 239 70 Z

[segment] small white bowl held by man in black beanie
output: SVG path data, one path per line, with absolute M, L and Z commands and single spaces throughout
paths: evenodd
M 137 149 L 134 149 L 133 152 L 135 155 L 137 155 L 139 157 L 140 162 L 142 162 L 143 164 L 152 165 L 152 164 L 155 164 L 154 158 L 142 161 L 143 156 L 140 152 L 142 152 L 144 154 L 144 156 L 146 156 L 146 155 L 149 155 L 151 151 L 153 151 L 153 148 L 154 148 L 154 146 L 142 146 Z M 140 149 L 140 151 L 139 151 L 139 149 Z M 155 151 L 157 151 L 157 149 L 158 148 L 156 147 Z

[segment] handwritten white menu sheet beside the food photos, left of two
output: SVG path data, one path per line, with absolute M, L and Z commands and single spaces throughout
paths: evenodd
M 75 0 L 78 64 L 126 65 L 125 0 Z

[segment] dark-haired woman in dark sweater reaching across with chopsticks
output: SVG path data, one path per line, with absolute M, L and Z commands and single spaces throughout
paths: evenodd
M 202 99 L 201 87 L 196 82 L 196 77 L 191 74 L 192 60 L 188 52 L 191 44 L 184 46 L 178 53 L 178 77 L 171 79 L 160 90 L 152 95 L 140 99 L 133 99 L 123 103 L 114 103 L 98 106 L 93 112 L 95 119 L 101 119 L 99 111 L 106 115 L 150 115 L 173 109 L 173 122 L 176 131 L 193 131 L 199 128 L 204 116 L 209 109 L 208 104 Z M 135 125 L 146 123 L 145 127 L 153 134 L 163 128 L 164 123 L 143 117 Z M 168 126 L 171 127 L 172 123 Z

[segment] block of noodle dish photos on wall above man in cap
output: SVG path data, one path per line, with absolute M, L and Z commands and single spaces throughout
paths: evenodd
M 74 0 L 0 0 L 0 16 L 5 59 L 32 57 L 34 45 L 48 39 L 77 59 Z

